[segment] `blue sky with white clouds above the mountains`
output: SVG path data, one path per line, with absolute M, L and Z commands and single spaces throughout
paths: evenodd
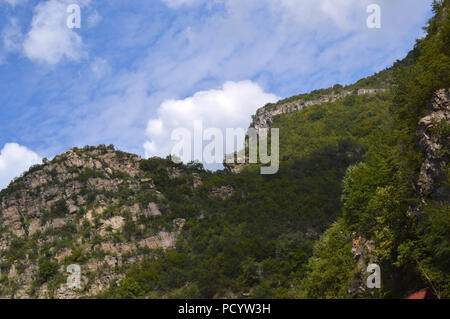
M 0 0 L 0 189 L 69 148 L 166 156 L 176 128 L 247 128 L 268 102 L 372 75 L 423 37 L 431 3 Z

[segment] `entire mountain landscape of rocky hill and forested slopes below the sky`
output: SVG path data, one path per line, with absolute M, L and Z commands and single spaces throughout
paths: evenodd
M 277 174 L 104 145 L 32 167 L 0 192 L 0 296 L 448 298 L 449 6 L 391 68 L 259 109 Z

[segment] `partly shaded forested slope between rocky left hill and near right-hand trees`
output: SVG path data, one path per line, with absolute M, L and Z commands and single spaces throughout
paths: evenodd
M 298 296 L 313 243 L 341 215 L 347 167 L 389 130 L 390 102 L 389 92 L 352 95 L 278 117 L 279 173 L 262 176 L 258 165 L 202 173 L 184 199 L 193 209 L 177 249 L 136 265 L 103 296 Z

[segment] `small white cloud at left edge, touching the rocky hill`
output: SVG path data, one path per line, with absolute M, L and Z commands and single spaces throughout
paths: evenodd
M 30 166 L 41 163 L 39 155 L 16 143 L 5 144 L 0 152 L 0 189 L 25 172 Z

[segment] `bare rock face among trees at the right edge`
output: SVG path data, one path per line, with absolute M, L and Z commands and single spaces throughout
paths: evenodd
M 448 155 L 441 154 L 450 145 L 450 136 L 443 136 L 439 126 L 450 124 L 450 90 L 442 89 L 433 95 L 428 115 L 419 121 L 417 142 L 425 155 L 417 182 L 423 199 L 448 200 L 450 189 L 444 183 Z

